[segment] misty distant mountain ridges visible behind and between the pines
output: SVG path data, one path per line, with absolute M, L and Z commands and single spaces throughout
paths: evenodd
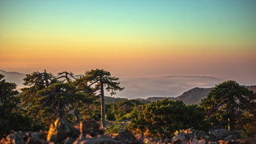
M 8 82 L 15 82 L 18 89 L 25 87 L 23 79 L 25 74 L 18 73 L 16 71 L 4 71 L 0 70 L 0 73 L 5 77 Z M 75 78 L 83 75 L 74 75 Z M 182 100 L 184 104 L 200 104 L 201 99 L 207 97 L 207 94 L 215 85 L 224 80 L 211 76 L 164 76 L 164 77 L 141 77 L 137 79 L 127 79 L 121 81 L 120 85 L 125 87 L 121 92 L 121 97 L 118 94 L 114 97 L 106 98 L 108 103 L 118 103 L 118 101 L 124 99 L 135 99 L 141 101 L 156 101 L 162 99 L 169 100 Z M 199 88 L 204 87 L 204 88 Z M 208 87 L 208 88 L 207 88 Z M 209 88 L 210 87 L 210 88 Z M 246 86 L 248 89 L 256 92 L 256 86 Z M 188 90 L 189 89 L 189 90 Z M 182 93 L 183 92 L 183 93 Z M 181 94 L 182 93 L 182 94 Z M 152 95 L 150 95 L 152 94 Z M 143 95 L 148 95 L 148 98 L 143 99 Z M 159 97 L 155 97 L 159 95 Z M 178 97 L 171 97 L 173 95 L 179 95 Z

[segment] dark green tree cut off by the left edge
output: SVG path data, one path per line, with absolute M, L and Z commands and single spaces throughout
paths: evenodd
M 21 114 L 20 99 L 15 83 L 6 82 L 0 74 L 0 138 L 12 130 L 31 130 L 30 119 Z

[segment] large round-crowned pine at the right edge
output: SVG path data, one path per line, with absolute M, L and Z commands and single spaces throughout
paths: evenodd
M 216 85 L 201 106 L 213 124 L 222 124 L 229 130 L 246 129 L 248 123 L 255 123 L 255 99 L 253 91 L 236 81 L 225 81 Z M 255 128 L 255 124 L 251 127 Z

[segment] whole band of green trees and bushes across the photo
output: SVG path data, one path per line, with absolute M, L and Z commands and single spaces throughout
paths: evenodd
M 0 137 L 11 131 L 45 130 L 57 117 L 73 123 L 95 119 L 105 128 L 105 118 L 111 123 L 115 121 L 107 134 L 119 133 L 124 127 L 120 123 L 131 119 L 126 129 L 161 139 L 183 129 L 207 130 L 214 125 L 236 129 L 243 137 L 256 133 L 256 94 L 235 81 L 220 83 L 197 106 L 185 105 L 181 100 L 164 99 L 147 104 L 147 101 L 112 97 L 107 97 L 105 104 L 104 91 L 113 95 L 124 88 L 119 86 L 118 77 L 102 69 L 86 71 L 77 79 L 67 71 L 57 76 L 46 70 L 35 71 L 26 75 L 22 93 L 14 90 L 15 83 L 3 78 L 0 74 Z

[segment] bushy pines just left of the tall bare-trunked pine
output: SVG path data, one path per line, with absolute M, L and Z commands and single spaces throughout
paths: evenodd
M 72 81 L 68 76 L 72 73 L 63 71 L 55 77 L 51 73 L 38 71 L 27 74 L 22 88 L 22 105 L 26 107 L 26 115 L 32 119 L 33 127 L 45 129 L 51 119 L 65 117 L 74 121 L 74 115 L 80 119 L 80 110 L 84 105 L 92 103 L 90 87 L 87 81 L 77 79 Z M 62 80 L 65 78 L 65 80 Z M 74 115 L 70 112 L 74 111 Z

